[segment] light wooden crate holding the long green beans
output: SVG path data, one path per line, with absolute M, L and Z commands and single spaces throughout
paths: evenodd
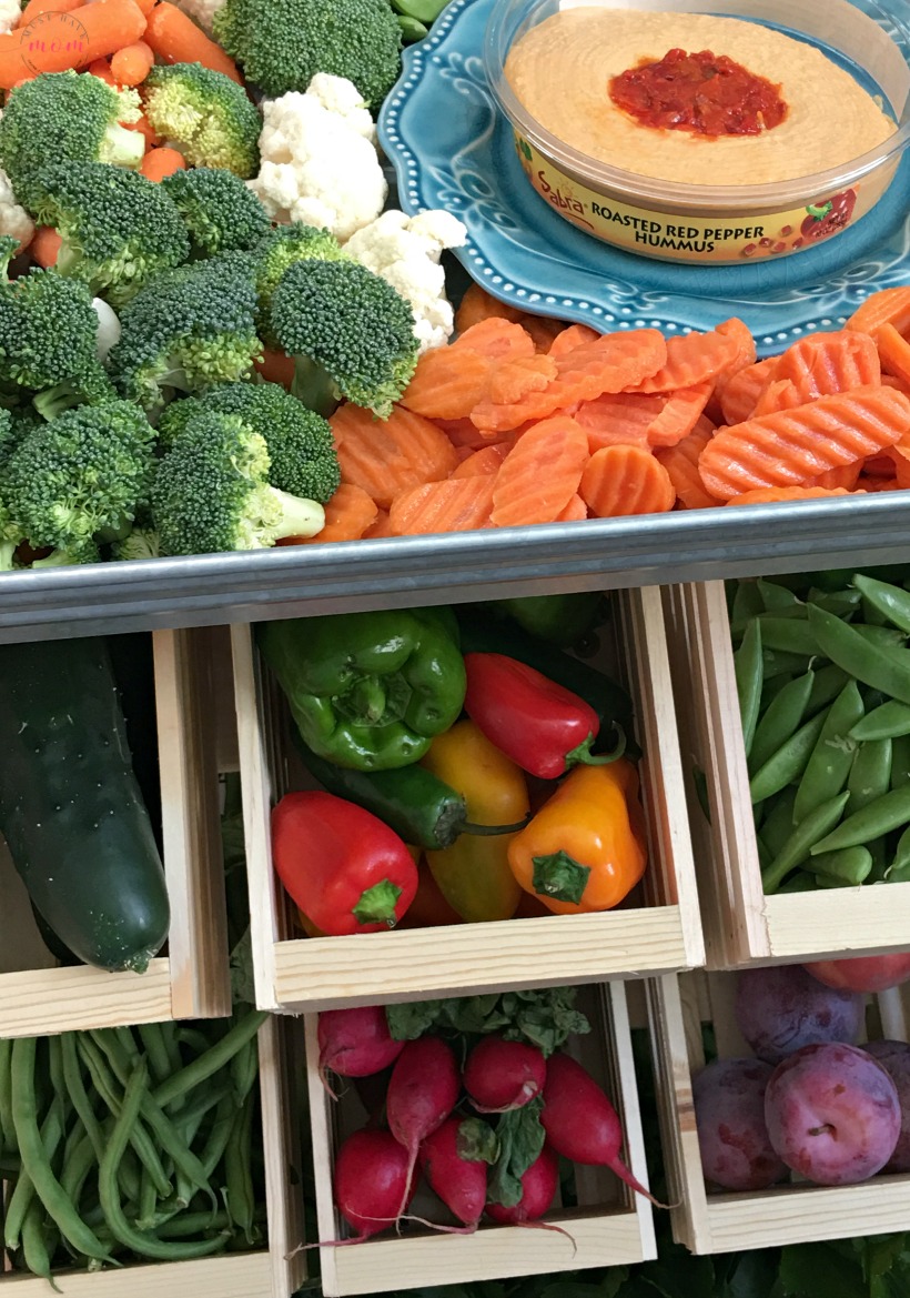
M 149 1263 L 106 1271 L 62 1272 L 64 1298 L 289 1298 L 306 1279 L 306 1254 L 296 1250 L 302 1233 L 300 1162 L 302 1146 L 288 1081 L 289 1024 L 270 1018 L 258 1033 L 260 1099 L 265 1147 L 267 1246 L 195 1262 Z M 9 1259 L 4 1259 L 9 1267 Z M 0 1271 L 9 1298 L 47 1298 L 39 1276 Z

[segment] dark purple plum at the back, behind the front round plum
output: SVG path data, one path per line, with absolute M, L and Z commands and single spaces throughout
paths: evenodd
M 859 1038 L 865 997 L 826 986 L 801 964 L 740 970 L 736 984 L 740 1032 L 766 1063 L 780 1063 L 801 1046 Z

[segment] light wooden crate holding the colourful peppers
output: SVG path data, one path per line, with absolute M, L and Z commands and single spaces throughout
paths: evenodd
M 256 994 L 264 1009 L 299 1012 L 639 976 L 702 963 L 659 592 L 626 592 L 615 606 L 645 753 L 641 781 L 650 864 L 643 887 L 623 906 L 602 914 L 350 937 L 295 936 L 292 909 L 271 864 L 269 811 L 289 788 L 305 787 L 305 776 L 291 766 L 289 744 L 283 740 L 287 707 L 261 668 L 252 628 L 234 628 Z

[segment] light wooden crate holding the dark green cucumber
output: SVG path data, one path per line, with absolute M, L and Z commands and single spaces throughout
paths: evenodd
M 156 631 L 154 689 L 164 866 L 171 906 L 165 954 L 143 975 L 58 968 L 0 842 L 0 1036 L 230 1014 L 213 691 L 204 632 Z M 230 707 L 230 702 L 227 704 Z

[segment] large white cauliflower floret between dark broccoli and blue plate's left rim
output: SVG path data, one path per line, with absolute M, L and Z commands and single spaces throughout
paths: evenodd
M 349 80 L 318 73 L 305 93 L 265 100 L 262 118 L 262 165 L 248 184 L 274 221 L 304 221 L 344 241 L 382 212 L 388 184 L 375 123 Z

